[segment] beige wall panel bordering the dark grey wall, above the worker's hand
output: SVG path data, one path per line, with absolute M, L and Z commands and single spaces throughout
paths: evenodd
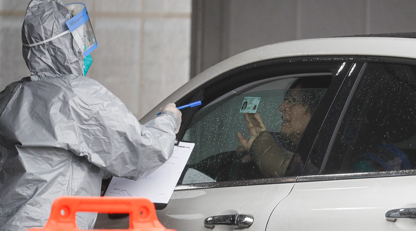
M 144 23 L 141 114 L 146 114 L 189 79 L 190 19 Z

